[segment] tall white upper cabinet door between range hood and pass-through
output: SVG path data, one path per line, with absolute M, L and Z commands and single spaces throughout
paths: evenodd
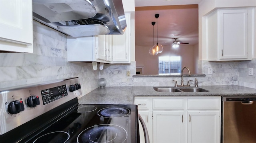
M 113 62 L 130 63 L 130 13 L 125 14 L 126 30 L 123 35 L 112 35 Z

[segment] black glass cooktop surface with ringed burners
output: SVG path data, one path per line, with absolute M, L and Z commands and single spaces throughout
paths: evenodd
M 139 143 L 136 105 L 79 104 L 28 143 Z

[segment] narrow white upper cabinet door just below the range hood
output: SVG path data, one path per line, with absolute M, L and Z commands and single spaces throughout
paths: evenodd
M 96 59 L 106 60 L 106 35 L 96 35 Z

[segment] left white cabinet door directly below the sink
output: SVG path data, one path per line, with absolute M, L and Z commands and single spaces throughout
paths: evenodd
M 153 142 L 184 143 L 184 111 L 153 111 Z

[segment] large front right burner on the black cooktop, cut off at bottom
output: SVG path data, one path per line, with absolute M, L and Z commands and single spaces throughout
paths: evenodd
M 82 131 L 78 137 L 78 143 L 124 143 L 127 132 L 118 125 L 101 124 L 94 125 Z

